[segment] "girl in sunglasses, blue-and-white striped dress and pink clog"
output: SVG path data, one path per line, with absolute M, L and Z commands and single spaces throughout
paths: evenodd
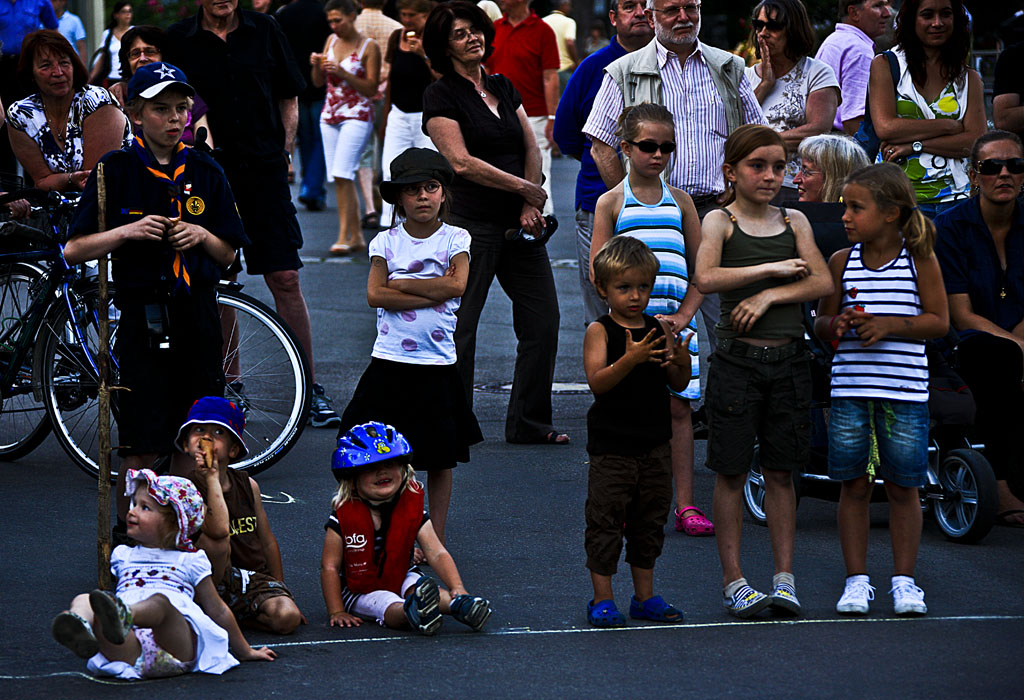
M 643 102 L 623 111 L 618 118 L 622 151 L 629 175 L 597 201 L 590 248 L 593 261 L 613 235 L 642 240 L 658 261 L 650 302 L 644 312 L 666 321 L 672 333 L 689 333 L 690 381 L 672 394 L 672 474 L 675 480 L 676 530 L 688 535 L 711 535 L 715 526 L 693 505 L 693 426 L 690 401 L 700 398 L 700 354 L 694 314 L 703 301 L 690 287 L 689 270 L 700 245 L 700 220 L 693 200 L 662 179 L 676 149 L 672 114 L 660 104 Z

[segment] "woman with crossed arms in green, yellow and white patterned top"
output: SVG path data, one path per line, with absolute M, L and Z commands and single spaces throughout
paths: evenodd
M 967 157 L 985 133 L 981 77 L 967 67 L 963 0 L 905 0 L 896 15 L 896 85 L 886 56 L 871 61 L 868 106 L 880 160 L 903 168 L 927 216 L 966 199 Z

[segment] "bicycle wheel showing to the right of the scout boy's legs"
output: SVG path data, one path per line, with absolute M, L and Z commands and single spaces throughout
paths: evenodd
M 257 474 L 285 456 L 306 427 L 309 365 L 295 334 L 270 307 L 234 290 L 219 290 L 217 296 L 224 396 L 245 412 L 249 449 L 231 467 Z

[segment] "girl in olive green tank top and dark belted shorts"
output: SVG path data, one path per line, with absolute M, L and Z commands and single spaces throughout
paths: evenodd
M 695 283 L 718 292 L 722 316 L 708 376 L 708 460 L 726 611 L 746 618 L 771 606 L 799 615 L 793 575 L 797 505 L 792 472 L 810 446 L 811 384 L 800 304 L 831 292 L 807 218 L 770 206 L 786 149 L 766 126 L 739 127 L 725 142 L 727 209 L 705 217 Z M 743 485 L 760 445 L 765 516 L 774 537 L 770 594 L 748 583 L 739 562 Z M 778 536 L 776 533 L 785 533 Z

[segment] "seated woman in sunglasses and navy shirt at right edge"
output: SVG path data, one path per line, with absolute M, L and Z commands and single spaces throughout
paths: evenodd
M 990 131 L 971 151 L 967 202 L 935 219 L 935 253 L 959 333 L 959 373 L 978 405 L 975 426 L 995 472 L 996 522 L 1024 527 L 1024 147 Z

